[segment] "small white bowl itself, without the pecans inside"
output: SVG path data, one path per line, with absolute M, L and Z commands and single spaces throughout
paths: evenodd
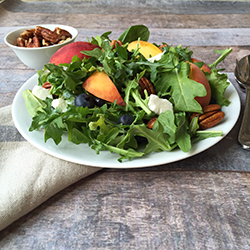
M 20 34 L 24 30 L 35 29 L 36 26 L 42 26 L 44 28 L 50 29 L 51 31 L 53 31 L 56 27 L 59 27 L 61 29 L 67 30 L 72 35 L 72 39 L 61 44 L 55 44 L 55 45 L 39 47 L 39 48 L 25 48 L 25 47 L 17 46 L 17 38 L 20 37 Z M 32 69 L 39 70 L 39 69 L 43 69 L 44 64 L 49 62 L 49 59 L 51 58 L 51 56 L 58 49 L 60 49 L 64 45 L 74 42 L 77 35 L 78 35 L 78 31 L 75 28 L 70 27 L 70 26 L 60 25 L 60 24 L 38 24 L 38 25 L 22 27 L 17 30 L 11 31 L 5 36 L 4 42 L 9 47 L 12 48 L 12 50 L 16 53 L 18 58 L 25 65 L 27 65 L 28 67 Z

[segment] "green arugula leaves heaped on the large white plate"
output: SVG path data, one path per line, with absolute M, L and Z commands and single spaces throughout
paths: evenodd
M 69 64 L 56 66 L 48 63 L 37 72 L 38 85 L 51 83 L 50 93 L 54 98 L 63 98 L 67 102 L 67 110 L 53 108 L 52 98 L 41 100 L 31 90 L 25 90 L 23 97 L 33 118 L 30 131 L 43 128 L 45 142 L 51 138 L 55 144 L 59 144 L 66 134 L 70 142 L 87 143 L 97 154 L 103 150 L 117 153 L 120 162 L 143 157 L 153 151 L 180 148 L 188 152 L 195 141 L 222 135 L 222 131 L 199 130 L 197 118 L 190 122 L 192 112 L 202 113 L 202 107 L 194 98 L 206 95 L 202 84 L 188 78 L 190 65 L 187 62 L 191 62 L 192 51 L 181 45 L 165 46 L 161 59 L 152 63 L 140 54 L 138 48 L 133 52 L 127 50 L 132 41 L 148 41 L 149 30 L 146 26 L 130 27 L 117 39 L 123 45 L 116 48 L 110 45 L 110 34 L 107 32 L 89 40 L 102 48 L 82 51 L 91 56 L 89 59 L 81 60 L 74 56 Z M 227 106 L 230 102 L 224 98 L 224 92 L 229 82 L 227 75 L 220 72 L 223 69 L 217 69 L 217 65 L 231 49 L 215 52 L 220 56 L 209 65 L 211 74 L 205 74 L 213 100 Z M 203 62 L 196 64 L 201 67 Z M 101 107 L 76 107 L 75 97 L 86 92 L 83 82 L 93 72 L 102 70 L 119 90 L 126 106 L 106 102 Z M 173 104 L 174 111 L 167 110 L 156 115 L 149 109 L 147 92 L 144 91 L 146 98 L 139 93 L 138 82 L 143 76 L 153 83 L 160 98 L 166 98 Z M 130 125 L 118 123 L 119 117 L 124 114 L 133 117 Z M 153 117 L 157 120 L 153 129 L 149 129 L 146 124 Z

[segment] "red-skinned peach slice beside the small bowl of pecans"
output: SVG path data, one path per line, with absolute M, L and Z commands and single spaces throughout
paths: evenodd
M 84 55 L 83 53 L 81 53 L 81 51 L 93 50 L 95 48 L 100 47 L 88 42 L 73 42 L 57 50 L 52 55 L 49 62 L 56 65 L 59 65 L 60 63 L 70 63 L 74 55 L 77 55 L 79 58 L 81 58 L 81 60 L 85 57 L 89 58 L 90 56 Z

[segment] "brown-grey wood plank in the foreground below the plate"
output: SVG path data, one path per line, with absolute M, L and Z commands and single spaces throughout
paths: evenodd
M 1 249 L 247 249 L 249 173 L 100 172 L 14 222 Z M 34 237 L 36 236 L 36 237 Z

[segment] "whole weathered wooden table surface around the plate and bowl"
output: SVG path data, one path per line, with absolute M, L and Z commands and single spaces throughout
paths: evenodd
M 4 44 L 19 26 L 60 23 L 77 40 L 135 24 L 150 41 L 182 44 L 220 64 L 236 87 L 235 60 L 250 51 L 249 1 L 77 1 L 0 4 L 0 107 L 10 105 L 36 72 Z M 232 114 L 233 115 L 233 114 Z M 105 169 L 62 190 L 0 232 L 1 249 L 249 249 L 250 153 L 237 142 L 242 120 L 218 144 L 191 158 L 152 168 Z

